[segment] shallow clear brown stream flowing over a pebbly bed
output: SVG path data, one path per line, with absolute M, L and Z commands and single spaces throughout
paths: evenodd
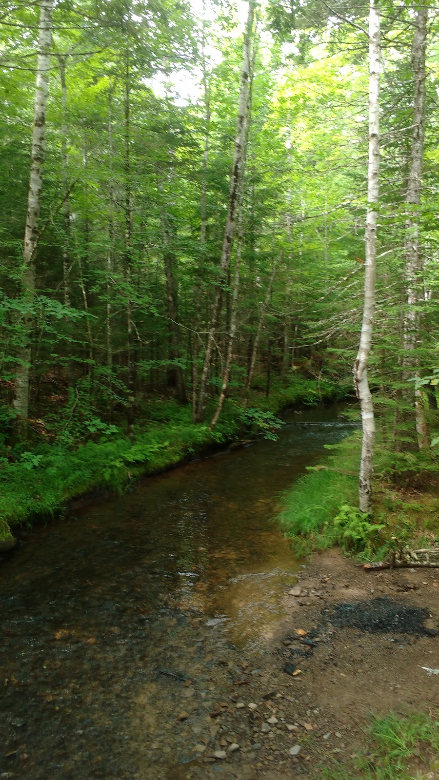
M 299 563 L 277 497 L 352 430 L 338 411 L 96 500 L 2 563 L 0 778 L 221 776 L 191 751 L 283 617 Z

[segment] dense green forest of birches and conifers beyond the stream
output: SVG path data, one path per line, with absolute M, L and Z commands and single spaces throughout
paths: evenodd
M 354 393 L 341 503 L 437 484 L 434 3 L 7 0 L 0 23 L 3 544 Z

